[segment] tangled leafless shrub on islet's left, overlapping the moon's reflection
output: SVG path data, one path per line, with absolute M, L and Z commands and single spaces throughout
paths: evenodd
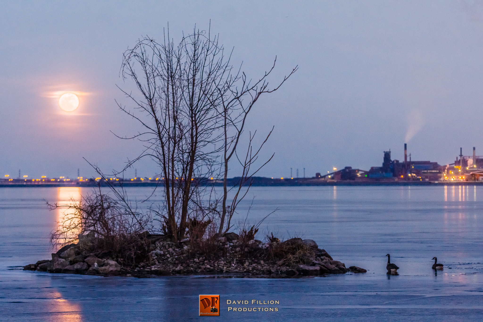
M 81 249 L 115 258 L 123 265 L 135 264 L 149 252 L 146 234 L 142 232 L 152 228 L 150 217 L 130 210 L 104 194 L 100 187 L 79 201 L 47 205 L 51 210 L 65 209 L 51 233 L 53 245 L 71 244 L 78 241 L 79 234 L 89 234 L 88 242 L 79 243 Z

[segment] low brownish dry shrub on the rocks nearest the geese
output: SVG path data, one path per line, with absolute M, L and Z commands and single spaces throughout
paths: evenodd
M 270 261 L 276 261 L 277 265 L 294 266 L 312 260 L 315 252 L 302 242 L 302 238 L 291 238 L 271 243 L 265 256 Z

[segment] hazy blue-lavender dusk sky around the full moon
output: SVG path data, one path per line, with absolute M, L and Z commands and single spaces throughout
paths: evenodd
M 453 163 L 483 155 L 483 1 L 8 1 L 0 11 L 0 174 L 95 176 L 124 167 L 142 143 L 119 111 L 122 54 L 139 38 L 179 41 L 195 25 L 219 34 L 256 79 L 277 64 L 247 130 L 275 126 L 258 175 L 368 170 L 383 151 Z M 74 112 L 59 94 L 77 93 Z M 87 161 L 86 161 L 87 160 Z M 239 175 L 232 165 L 229 176 Z M 127 177 L 152 176 L 142 161 Z

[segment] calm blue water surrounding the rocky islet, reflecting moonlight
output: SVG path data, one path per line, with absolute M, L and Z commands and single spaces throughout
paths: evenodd
M 314 239 L 365 274 L 310 279 L 101 278 L 22 271 L 50 258 L 63 201 L 87 191 L 0 188 L 2 321 L 191 321 L 198 295 L 220 294 L 220 321 L 477 321 L 483 313 L 483 187 L 253 187 L 235 223 Z M 130 188 L 138 199 L 150 188 Z M 252 202 L 252 195 L 255 199 Z M 386 253 L 399 267 L 385 274 Z M 445 265 L 435 274 L 433 256 Z M 451 268 L 449 268 L 451 267 Z M 226 299 L 279 300 L 278 312 L 227 312 Z M 249 306 L 244 306 L 249 307 Z M 251 307 L 251 306 L 250 306 Z

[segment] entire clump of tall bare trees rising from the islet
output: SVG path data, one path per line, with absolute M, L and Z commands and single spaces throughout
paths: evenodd
M 126 168 L 143 157 L 150 157 L 158 165 L 165 202 L 157 212 L 163 218 L 164 232 L 173 241 L 185 237 L 190 211 L 202 207 L 199 194 L 206 184 L 203 180 L 220 165 L 224 195 L 218 233 L 229 229 L 236 205 L 246 195 L 241 194 L 241 187 L 261 168 L 250 170 L 263 146 L 254 149 L 254 135 L 250 134 L 244 161 L 239 159 L 243 170 L 238 192 L 227 206 L 228 163 L 237 155 L 247 115 L 262 94 L 277 90 L 297 70 L 294 68 L 280 84 L 269 89 L 267 77 L 275 61 L 263 77 L 252 83 L 240 69 L 232 73 L 230 58 L 231 54 L 224 56 L 218 36 L 196 29 L 177 45 L 170 40 L 168 30 L 164 42 L 145 37 L 124 53 L 121 74 L 123 79 L 134 82 L 137 91 L 133 94 L 121 89 L 134 103 L 133 109 L 121 103 L 118 106 L 139 121 L 143 131 L 122 138 L 137 138 L 144 144 L 143 153 Z M 209 213 L 217 212 L 216 204 L 210 203 Z

